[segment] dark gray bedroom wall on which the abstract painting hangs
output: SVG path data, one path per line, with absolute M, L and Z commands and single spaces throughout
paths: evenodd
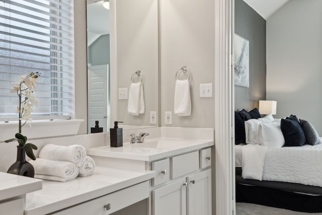
M 243 0 L 235 0 L 234 30 L 250 41 L 250 87 L 234 87 L 235 110 L 251 110 L 266 99 L 266 21 Z

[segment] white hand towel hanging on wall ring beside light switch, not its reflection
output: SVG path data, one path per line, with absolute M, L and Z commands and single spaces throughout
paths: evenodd
M 191 115 L 191 98 L 189 80 L 177 80 L 175 88 L 175 114 Z

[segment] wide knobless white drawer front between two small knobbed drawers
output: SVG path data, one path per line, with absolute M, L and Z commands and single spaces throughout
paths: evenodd
M 177 178 L 199 169 L 199 151 L 171 158 L 171 178 Z

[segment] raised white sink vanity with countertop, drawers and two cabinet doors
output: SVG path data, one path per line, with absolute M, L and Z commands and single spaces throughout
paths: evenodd
M 189 138 L 180 138 L 182 132 L 170 137 L 161 132 L 161 137 L 146 139 L 143 144 L 98 147 L 88 154 L 99 166 L 155 171 L 146 214 L 211 215 L 213 129 L 200 129 L 206 133 L 202 136 L 193 135 L 195 131 L 187 128 L 183 132 Z M 204 139 L 198 139 L 201 137 Z

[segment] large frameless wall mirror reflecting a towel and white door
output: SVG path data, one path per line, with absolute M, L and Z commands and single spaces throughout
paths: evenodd
M 159 125 L 157 16 L 157 0 L 87 0 L 89 133 Z

